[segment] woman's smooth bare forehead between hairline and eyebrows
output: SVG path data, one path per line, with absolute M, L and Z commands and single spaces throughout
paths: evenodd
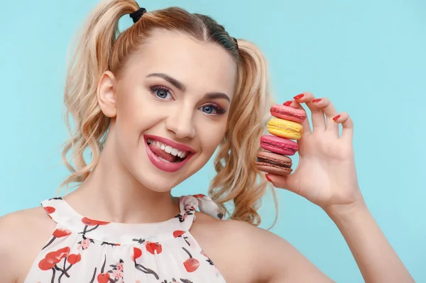
M 167 30 L 155 30 L 130 64 L 139 74 L 168 74 L 200 95 L 220 91 L 231 96 L 236 83 L 236 62 L 224 48 Z

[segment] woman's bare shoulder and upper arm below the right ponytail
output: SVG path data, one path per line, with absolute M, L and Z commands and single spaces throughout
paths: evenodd
M 200 245 L 221 260 L 218 269 L 229 272 L 227 282 L 332 282 L 287 240 L 249 223 L 203 216 L 197 233 L 204 241 Z

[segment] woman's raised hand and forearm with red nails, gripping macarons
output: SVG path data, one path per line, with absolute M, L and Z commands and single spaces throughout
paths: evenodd
M 414 282 L 378 228 L 359 189 L 352 146 L 354 123 L 349 114 L 338 113 L 329 99 L 315 99 L 310 92 L 294 99 L 288 101 L 291 106 L 303 109 L 301 103 L 305 103 L 311 110 L 312 127 L 307 119 L 302 122 L 296 170 L 288 176 L 268 174 L 267 179 L 327 212 L 342 232 L 366 282 Z

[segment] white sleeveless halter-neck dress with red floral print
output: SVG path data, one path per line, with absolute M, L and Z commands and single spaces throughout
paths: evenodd
M 62 198 L 41 204 L 57 226 L 24 283 L 225 282 L 189 232 L 197 208 L 223 218 L 208 196 L 181 196 L 177 216 L 142 224 L 93 220 Z

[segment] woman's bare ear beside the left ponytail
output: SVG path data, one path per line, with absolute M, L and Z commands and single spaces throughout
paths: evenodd
M 112 72 L 104 72 L 97 87 L 97 101 L 105 116 L 114 118 L 117 115 L 115 77 Z

